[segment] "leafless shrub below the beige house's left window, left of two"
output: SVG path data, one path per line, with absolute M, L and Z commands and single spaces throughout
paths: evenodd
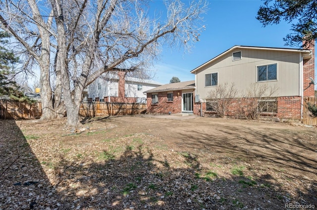
M 223 118 L 233 98 L 238 96 L 238 90 L 234 83 L 228 86 L 228 83 L 219 84 L 209 92 L 208 98 L 212 101 L 212 109 L 217 116 Z

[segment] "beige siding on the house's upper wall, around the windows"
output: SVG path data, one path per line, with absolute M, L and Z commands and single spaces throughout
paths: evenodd
M 238 51 L 238 50 L 236 50 Z M 205 74 L 218 72 L 218 84 L 234 83 L 242 94 L 257 83 L 257 66 L 277 63 L 277 81 L 261 82 L 259 85 L 276 85 L 278 90 L 274 96 L 299 95 L 299 63 L 298 52 L 283 52 L 258 49 L 241 49 L 242 59 L 232 61 L 229 52 L 212 62 L 204 70 L 197 72 L 197 93 L 201 98 L 208 98 L 215 87 L 205 87 Z

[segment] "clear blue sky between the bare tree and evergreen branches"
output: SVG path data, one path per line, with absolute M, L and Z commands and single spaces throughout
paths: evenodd
M 209 10 L 204 15 L 206 31 L 200 36 L 191 52 L 164 48 L 155 63 L 154 80 L 167 84 L 175 76 L 182 82 L 194 80 L 191 70 L 209 61 L 234 45 L 290 47 L 283 38 L 292 33 L 291 24 L 280 23 L 265 28 L 256 19 L 262 0 L 209 0 Z M 160 0 L 153 5 L 161 5 Z M 315 71 L 316 74 L 316 71 Z M 317 78 L 317 76 L 315 76 Z M 316 86 L 315 86 L 316 89 Z

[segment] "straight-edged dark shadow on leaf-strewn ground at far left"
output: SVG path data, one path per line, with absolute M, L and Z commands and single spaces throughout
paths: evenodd
M 21 121 L 22 122 L 22 121 Z M 0 120 L 0 209 L 57 207 L 59 195 L 14 120 Z

